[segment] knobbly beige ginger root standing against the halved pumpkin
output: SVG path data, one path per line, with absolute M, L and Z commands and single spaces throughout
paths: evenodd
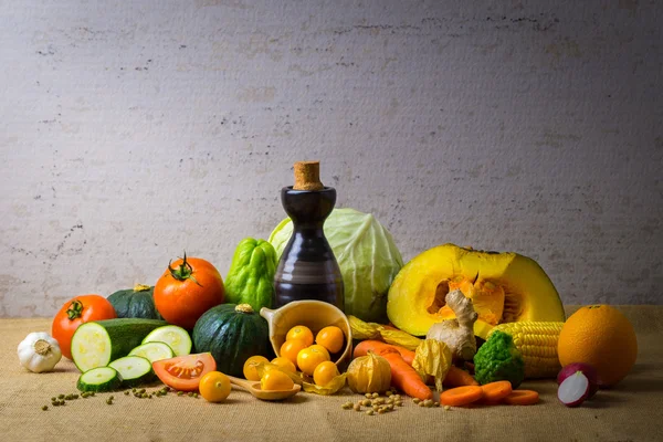
M 456 317 L 433 324 L 425 337 L 446 344 L 454 359 L 472 360 L 476 352 L 474 323 L 478 318 L 472 299 L 460 290 L 449 292 L 444 299 Z

